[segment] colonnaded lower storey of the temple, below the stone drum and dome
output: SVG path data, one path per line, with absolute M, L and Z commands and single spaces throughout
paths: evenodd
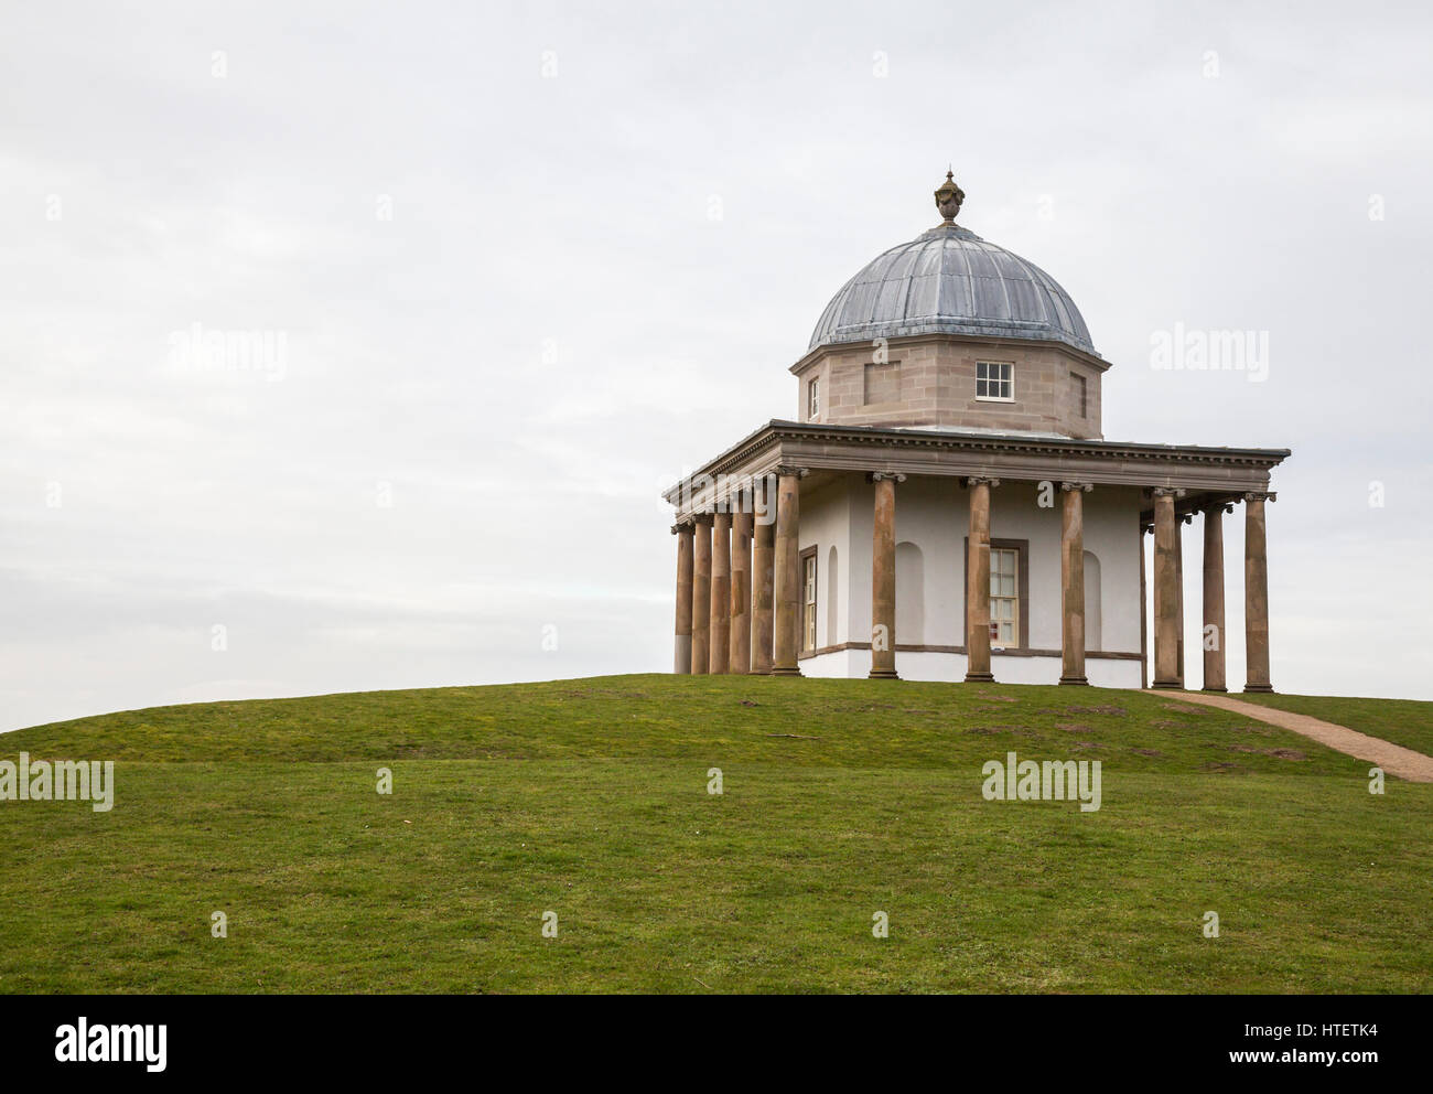
M 1086 576 L 1086 558 L 1096 559 L 1111 576 L 1131 575 L 1138 581 L 1142 563 L 1142 536 L 1155 531 L 1154 591 L 1154 665 L 1155 687 L 1179 687 L 1178 638 L 1184 629 L 1182 604 L 1175 584 L 1176 522 L 1194 513 L 1205 520 L 1204 604 L 1205 634 L 1212 628 L 1214 641 L 1204 642 L 1205 681 L 1211 690 L 1222 688 L 1224 670 L 1224 558 L 1219 520 L 1225 510 L 1255 496 L 1261 508 L 1270 495 L 1264 486 L 1268 472 L 1285 450 L 1204 449 L 1164 444 L 1116 444 L 1099 440 L 1049 439 L 970 434 L 934 434 L 926 430 L 831 427 L 797 422 L 770 422 L 761 430 L 702 467 L 691 479 L 668 492 L 678 509 L 678 648 L 686 645 L 682 627 L 688 615 L 699 618 L 698 608 L 682 607 L 689 582 L 685 575 L 686 536 L 708 523 L 742 526 L 751 522 L 757 543 L 757 571 L 761 569 L 762 531 L 774 533 L 772 608 L 764 611 L 761 595 L 745 591 L 745 582 L 732 585 L 731 596 L 711 595 L 711 611 L 728 605 L 727 618 L 712 617 L 712 634 L 729 634 L 732 621 L 749 627 L 745 652 L 738 651 L 725 665 L 712 662 L 711 671 L 797 675 L 853 675 L 851 654 L 864 661 L 863 675 L 894 678 L 910 662 L 917 678 L 1045 681 L 1069 685 L 1091 682 L 1086 665 L 1099 665 L 1096 682 L 1139 687 L 1145 657 L 1142 638 L 1144 594 L 1131 584 L 1128 595 L 1106 584 L 1092 585 Z M 853 552 L 847 542 L 831 543 L 833 498 L 843 503 L 866 503 L 870 529 L 868 553 Z M 903 523 L 903 503 L 909 503 L 910 531 Z M 1096 505 L 1098 553 L 1088 552 L 1085 535 L 1086 503 Z M 802 512 L 811 516 L 802 520 Z M 1262 513 L 1251 516 L 1262 522 Z M 960 535 L 919 535 L 944 525 Z M 1212 531 L 1209 531 L 1212 529 Z M 1042 535 L 1043 531 L 1043 535 Z M 851 539 L 858 535 L 853 529 Z M 770 538 L 770 536 L 768 536 Z M 956 541 L 960 541 L 959 545 Z M 950 549 L 941 551 L 944 542 Z M 903 566 L 897 545 L 919 548 L 930 565 L 944 565 L 950 576 L 960 575 L 963 602 L 954 598 L 926 596 L 926 588 L 903 589 Z M 1017 548 L 1003 546 L 1017 543 Z M 801 558 L 810 548 L 825 546 L 820 559 L 835 574 L 815 575 L 814 596 L 837 589 L 824 611 L 810 607 L 808 575 Z M 1030 602 L 1026 576 L 1025 595 L 999 585 L 992 598 L 992 545 L 1015 551 L 1017 565 L 1030 575 L 1059 575 L 1058 608 Z M 1245 595 L 1247 631 L 1267 635 L 1267 549 L 1261 536 L 1247 536 L 1245 572 L 1254 575 Z M 1049 552 L 1040 558 L 1036 552 Z M 850 562 L 843 555 L 850 553 Z M 1033 555 L 1033 556 L 1032 556 Z M 861 559 L 868 559 L 866 569 Z M 868 581 L 854 576 L 856 568 L 870 574 Z M 844 576 L 843 576 L 843 569 Z M 909 581 L 934 585 L 929 566 L 904 568 Z M 1036 576 L 1036 581 L 1039 578 Z M 953 582 L 946 582 L 952 585 Z M 868 612 L 840 605 L 840 592 L 864 588 Z M 1093 592 L 1098 604 L 1086 607 Z M 1119 601 L 1132 601 L 1134 609 L 1113 611 Z M 1005 612 L 1002 604 L 1015 609 Z M 933 621 L 931 609 L 946 608 L 947 619 Z M 993 609 L 992 605 L 996 605 Z M 1017 617 L 1023 609 L 1025 619 Z M 1088 617 L 1093 612 L 1101 632 L 1091 635 Z M 1002 614 L 1012 615 L 1010 628 L 1002 629 Z M 1030 622 L 1032 614 L 1036 617 Z M 1045 615 L 1042 621 L 1039 617 Z M 921 617 L 921 618 L 916 618 Z M 1050 621 L 1056 622 L 1050 628 Z M 866 621 L 868 619 L 868 625 Z M 916 632 L 904 634 L 914 622 Z M 860 629 L 857 629 L 860 628 Z M 810 631 L 815 631 L 815 637 Z M 929 634 L 927 634 L 929 632 Z M 929 641 L 950 638 L 954 641 Z M 1058 639 L 1040 642 L 1050 635 Z M 834 641 L 823 641 L 830 637 Z M 1095 639 L 1093 642 L 1091 639 Z M 1106 638 L 1112 641 L 1105 641 Z M 714 642 L 715 639 L 709 639 Z M 695 648 L 695 642 L 692 644 Z M 772 665 L 759 660 L 764 647 L 774 650 Z M 1250 642 L 1250 690 L 1268 684 L 1268 645 Z M 934 657 L 931 657 L 934 655 Z M 919 667 L 917 667 L 919 662 Z M 1048 667 L 1046 667 L 1048 665 Z M 833 671 L 841 668 L 841 671 Z M 813 670 L 815 670 L 813 672 Z M 999 671 L 996 671 L 999 670 Z

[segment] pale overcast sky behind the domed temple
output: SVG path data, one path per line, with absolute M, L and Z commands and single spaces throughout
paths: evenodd
M 792 416 L 947 162 L 1108 437 L 1294 449 L 1275 684 L 1433 698 L 1429 14 L 600 7 L 7 6 L 0 728 L 666 670 L 659 486 Z M 1154 371 L 1175 323 L 1268 331 L 1267 383 Z M 282 371 L 181 367 L 193 324 Z

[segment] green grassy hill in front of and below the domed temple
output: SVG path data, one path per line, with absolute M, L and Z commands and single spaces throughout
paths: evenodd
M 1427 733 L 1433 704 L 1396 717 Z M 1433 972 L 1433 786 L 1373 796 L 1364 761 L 1152 694 L 633 675 L 165 707 L 0 737 L 0 760 L 21 750 L 112 758 L 116 796 L 0 802 L 6 992 L 1380 992 Z M 1101 760 L 1102 807 L 986 802 L 1007 751 Z

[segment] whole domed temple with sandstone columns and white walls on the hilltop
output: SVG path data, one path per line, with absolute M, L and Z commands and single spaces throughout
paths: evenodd
M 1270 691 L 1264 503 L 1287 449 L 1105 440 L 1111 363 L 1039 267 L 944 218 L 847 281 L 772 420 L 663 495 L 678 672 L 1184 687 L 1182 536 L 1204 526 L 1204 687 L 1225 690 L 1222 516 L 1244 505 L 1245 690 Z M 1144 535 L 1154 529 L 1154 574 Z M 1211 629 L 1212 628 L 1212 629 Z

